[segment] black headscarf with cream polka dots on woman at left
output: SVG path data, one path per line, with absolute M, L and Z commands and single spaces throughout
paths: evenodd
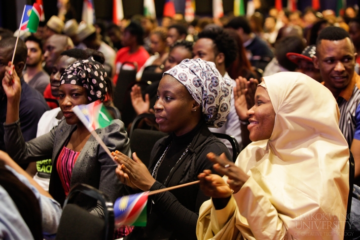
M 61 74 L 60 85 L 68 83 L 84 87 L 89 101 L 94 102 L 103 100 L 108 91 L 106 77 L 104 66 L 90 57 L 65 69 Z

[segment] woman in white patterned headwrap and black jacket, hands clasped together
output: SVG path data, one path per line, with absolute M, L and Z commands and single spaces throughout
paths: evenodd
M 215 68 L 201 59 L 183 60 L 166 71 L 155 103 L 160 131 L 171 133 L 155 143 L 148 169 L 133 154 L 129 160 L 115 154 L 122 167 L 116 170 L 128 186 L 153 191 L 196 180 L 197 174 L 212 169 L 206 154 L 230 153 L 209 131 L 221 127 L 230 109 L 232 85 Z M 196 239 L 199 207 L 208 198 L 198 185 L 150 196 L 146 227 L 135 227 L 128 239 Z

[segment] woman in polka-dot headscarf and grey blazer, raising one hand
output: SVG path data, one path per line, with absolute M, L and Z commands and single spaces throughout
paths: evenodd
M 115 201 L 121 195 L 123 186 L 115 176 L 116 164 L 72 112 L 76 105 L 103 101 L 111 93 L 103 65 L 90 57 L 74 62 L 65 69 L 59 86 L 59 103 L 65 118 L 50 133 L 28 142 L 24 141 L 20 132 L 17 104 L 20 100 L 20 80 L 16 72 L 10 75 L 9 70 L 7 67 L 2 81 L 8 99 L 4 124 L 7 153 L 18 163 L 51 158 L 49 193 L 61 205 L 71 187 L 77 183 L 98 188 Z M 118 149 L 130 156 L 129 139 L 120 120 L 113 120 L 108 127 L 96 132 L 110 151 Z M 103 214 L 96 201 L 79 196 L 79 203 L 94 214 Z

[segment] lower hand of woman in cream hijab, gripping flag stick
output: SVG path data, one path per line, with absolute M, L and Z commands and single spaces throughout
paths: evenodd
M 217 174 L 211 174 L 210 170 L 204 170 L 204 172 L 198 175 L 198 179 L 200 180 L 200 189 L 206 196 L 227 198 L 232 194 L 230 187 L 225 183 L 224 179 Z

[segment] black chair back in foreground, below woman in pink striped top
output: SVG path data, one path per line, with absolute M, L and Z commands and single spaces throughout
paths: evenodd
M 74 204 L 79 194 L 96 199 L 104 209 L 104 219 Z M 108 196 L 86 184 L 74 186 L 65 200 L 56 240 L 112 240 L 113 234 L 114 211 Z

